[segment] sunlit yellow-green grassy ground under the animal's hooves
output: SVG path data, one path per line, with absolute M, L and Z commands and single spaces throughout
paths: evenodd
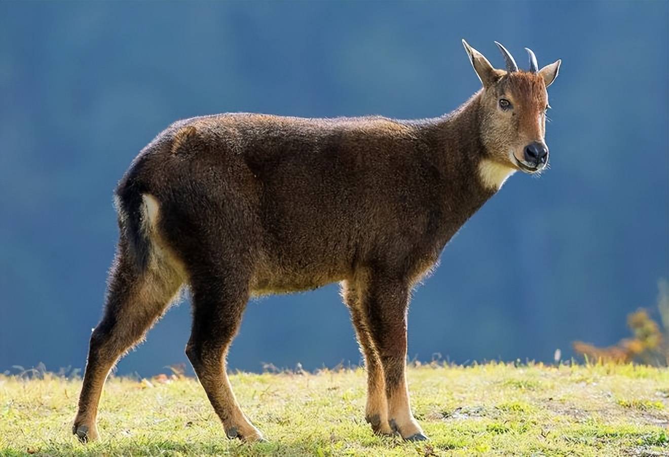
M 377 437 L 363 418 L 362 369 L 237 373 L 231 382 L 268 443 L 225 438 L 192 378 L 110 379 L 102 438 L 70 434 L 81 382 L 0 375 L 0 454 L 669 455 L 669 371 L 632 365 L 411 367 L 429 442 Z

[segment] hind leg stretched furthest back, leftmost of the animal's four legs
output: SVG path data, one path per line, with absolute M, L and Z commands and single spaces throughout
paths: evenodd
M 90 337 L 79 409 L 72 427 L 72 433 L 82 442 L 98 438 L 98 403 L 110 369 L 121 355 L 142 340 L 180 287 L 181 278 L 166 266 L 159 269 L 152 264 L 146 272 L 139 272 L 125 242 L 120 242 L 110 274 L 104 316 Z

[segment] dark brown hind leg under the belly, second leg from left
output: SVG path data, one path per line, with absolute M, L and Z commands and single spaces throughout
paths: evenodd
M 225 373 L 227 349 L 249 298 L 248 284 L 242 268 L 211 266 L 193 274 L 193 329 L 186 355 L 227 437 L 258 441 L 262 434 L 242 412 Z

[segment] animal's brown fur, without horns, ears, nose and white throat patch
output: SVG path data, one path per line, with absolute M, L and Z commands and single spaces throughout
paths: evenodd
M 108 371 L 189 286 L 187 356 L 227 436 L 261 439 L 225 373 L 246 302 L 339 281 L 369 373 L 368 422 L 424 439 L 404 373 L 409 293 L 497 190 L 482 163 L 517 168 L 508 151 L 543 141 L 542 76 L 495 72 L 440 118 L 219 114 L 159 134 L 116 189 L 120 240 L 74 433 L 97 438 Z

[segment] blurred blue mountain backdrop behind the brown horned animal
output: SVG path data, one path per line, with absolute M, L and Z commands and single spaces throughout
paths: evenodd
M 569 357 L 615 343 L 669 276 L 666 1 L 0 3 L 0 372 L 83 367 L 117 228 L 112 189 L 179 118 L 450 112 L 502 67 L 563 60 L 551 170 L 516 174 L 413 295 L 409 356 Z M 656 312 L 656 310 L 654 310 Z M 187 302 L 119 373 L 186 363 Z M 338 286 L 248 305 L 229 367 L 361 357 Z

